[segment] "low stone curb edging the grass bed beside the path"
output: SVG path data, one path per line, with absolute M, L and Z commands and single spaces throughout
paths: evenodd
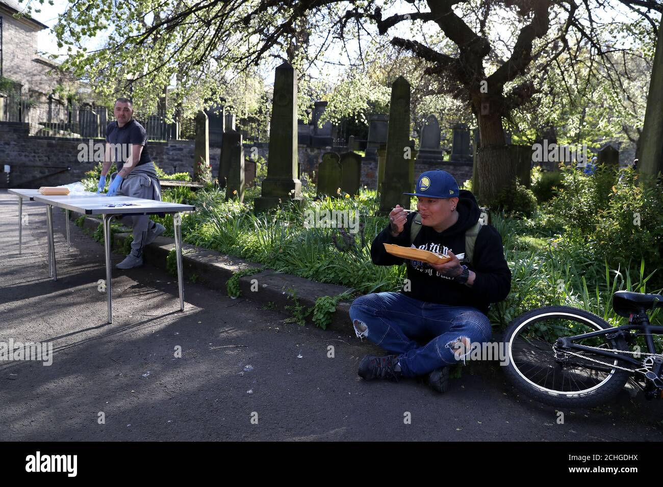
M 80 215 L 72 212 L 70 218 L 76 220 L 80 218 Z M 84 216 L 83 230 L 91 234 L 99 227 L 100 223 L 101 219 Z M 131 233 L 113 234 L 114 252 L 123 246 L 125 239 L 129 235 Z M 166 258 L 172 248 L 175 248 L 174 239 L 170 237 L 157 237 L 153 243 L 149 244 L 143 250 L 143 259 L 157 268 L 167 270 Z M 196 283 L 203 284 L 214 290 L 220 290 L 223 294 L 226 293 L 226 282 L 238 270 L 264 268 L 262 264 L 255 264 L 248 260 L 227 256 L 215 250 L 208 250 L 186 243 L 182 246 L 182 267 L 185 281 L 194 278 Z M 253 280 L 256 280 L 255 283 Z M 257 286 L 254 284 L 257 284 Z M 254 290 L 251 289 L 252 287 Z M 267 268 L 257 274 L 239 278 L 239 288 L 241 296 L 238 299 L 250 298 L 252 301 L 265 303 L 265 305 L 271 303 L 271 305 L 280 309 L 284 309 L 288 305 L 294 305 L 294 301 L 288 299 L 288 296 L 292 292 L 296 294 L 300 305 L 312 307 L 315 305 L 317 298 L 322 296 L 337 296 L 338 294 L 349 291 L 349 288 L 343 286 L 314 282 L 300 278 L 299 276 L 292 276 L 292 274 L 284 274 Z M 186 299 L 186 286 L 184 291 Z M 349 316 L 350 304 L 350 301 L 341 301 L 338 303 L 336 312 L 332 315 L 331 323 L 327 327 L 328 329 L 353 333 Z M 307 323 L 313 325 L 310 319 L 307 320 Z

